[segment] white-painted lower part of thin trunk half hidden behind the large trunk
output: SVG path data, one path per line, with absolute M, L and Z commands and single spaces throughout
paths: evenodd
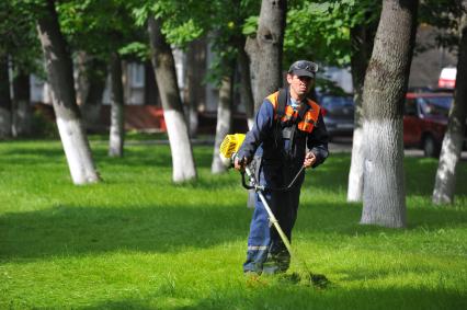
M 363 164 L 364 145 L 363 128 L 355 128 L 352 140 L 352 161 L 349 172 L 348 202 L 362 202 L 363 195 Z

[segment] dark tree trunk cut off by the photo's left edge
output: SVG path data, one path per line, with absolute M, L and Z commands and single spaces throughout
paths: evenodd
M 0 139 L 11 137 L 11 94 L 8 57 L 0 57 Z

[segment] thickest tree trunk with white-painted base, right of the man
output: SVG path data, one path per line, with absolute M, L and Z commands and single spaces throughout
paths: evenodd
M 383 1 L 363 91 L 362 223 L 406 226 L 402 111 L 417 31 L 417 9 L 418 1 Z

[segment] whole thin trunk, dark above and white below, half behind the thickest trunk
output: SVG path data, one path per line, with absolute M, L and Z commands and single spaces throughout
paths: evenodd
M 352 48 L 351 56 L 352 81 L 354 88 L 354 129 L 352 139 L 352 160 L 349 172 L 348 202 L 361 202 L 363 195 L 363 84 L 373 49 L 374 32 L 368 26 L 357 25 L 351 28 Z

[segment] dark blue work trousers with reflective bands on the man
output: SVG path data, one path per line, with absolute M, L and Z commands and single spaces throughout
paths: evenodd
M 269 187 L 287 186 L 298 169 L 285 169 L 276 165 L 261 165 L 260 184 Z M 288 241 L 292 240 L 292 229 L 297 219 L 300 187 L 305 174 L 301 174 L 295 185 L 287 192 L 265 190 L 263 193 L 271 210 L 278 220 Z M 285 272 L 291 264 L 291 254 L 281 240 L 274 226 L 270 222 L 267 211 L 257 193 L 254 213 L 248 237 L 247 260 L 243 272 L 274 274 Z

